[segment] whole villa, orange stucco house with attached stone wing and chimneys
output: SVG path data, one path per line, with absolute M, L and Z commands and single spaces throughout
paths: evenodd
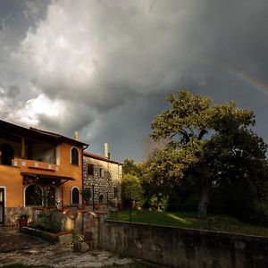
M 122 164 L 110 159 L 107 144 L 104 156 L 87 148 L 78 132 L 72 139 L 0 120 L 0 224 L 15 224 L 16 214 L 33 208 L 80 208 L 83 188 L 93 210 L 117 209 Z

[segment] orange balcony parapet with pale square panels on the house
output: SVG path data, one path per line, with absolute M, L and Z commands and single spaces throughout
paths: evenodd
M 12 160 L 12 166 L 53 171 L 53 172 L 57 172 L 59 170 L 59 166 L 54 163 L 45 163 L 35 160 L 17 159 L 17 158 Z

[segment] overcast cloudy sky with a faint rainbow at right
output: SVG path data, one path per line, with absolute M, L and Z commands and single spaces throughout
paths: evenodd
M 1 0 L 0 119 L 137 161 L 180 88 L 254 110 L 268 142 L 267 0 Z

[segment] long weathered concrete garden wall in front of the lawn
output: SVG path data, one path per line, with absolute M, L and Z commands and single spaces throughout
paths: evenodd
M 268 267 L 268 238 L 105 220 L 99 246 L 169 267 Z

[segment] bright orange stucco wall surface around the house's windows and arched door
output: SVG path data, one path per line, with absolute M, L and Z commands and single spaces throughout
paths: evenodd
M 5 187 L 5 199 L 7 207 L 23 206 L 24 205 L 24 188 L 22 185 L 21 172 L 32 172 L 51 174 L 56 176 L 67 176 L 74 180 L 69 180 L 59 188 L 59 199 L 62 199 L 63 204 L 70 205 L 70 191 L 72 187 L 82 189 L 82 147 L 77 147 L 80 152 L 80 164 L 71 164 L 71 145 L 61 144 L 58 147 L 58 171 L 42 170 L 29 167 L 13 167 L 0 165 L 0 187 Z M 63 191 L 62 191 L 63 188 Z

